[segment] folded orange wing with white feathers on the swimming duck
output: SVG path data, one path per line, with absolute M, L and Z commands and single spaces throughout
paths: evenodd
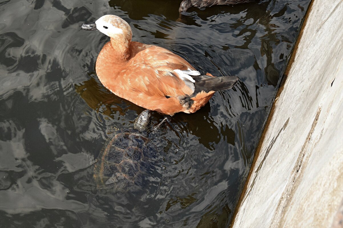
M 200 75 L 186 60 L 167 49 L 149 46 L 135 54 L 122 72 L 135 91 L 148 96 L 178 97 L 194 92 L 194 75 Z

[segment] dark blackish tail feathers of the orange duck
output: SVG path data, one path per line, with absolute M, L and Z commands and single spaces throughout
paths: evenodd
M 211 77 L 207 75 L 191 76 L 194 80 L 194 86 L 196 93 L 205 91 L 220 91 L 225 89 L 231 89 L 237 84 L 238 77 L 224 76 L 224 77 Z

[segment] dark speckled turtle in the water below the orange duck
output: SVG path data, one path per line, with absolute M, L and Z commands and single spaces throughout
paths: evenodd
M 149 160 L 155 152 L 148 144 L 148 134 L 160 129 L 166 119 L 152 128 L 151 111 L 145 110 L 134 120 L 134 128 L 112 128 L 113 133 L 95 163 L 96 185 L 127 191 L 141 182 L 152 168 Z

